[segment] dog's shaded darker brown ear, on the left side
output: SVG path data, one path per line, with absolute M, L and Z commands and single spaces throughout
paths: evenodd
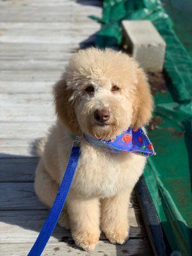
M 53 93 L 58 118 L 60 118 L 61 122 L 65 124 L 70 132 L 78 135 L 81 134 L 74 106 L 69 100 L 73 91 L 67 88 L 65 79 L 61 79 L 54 85 Z

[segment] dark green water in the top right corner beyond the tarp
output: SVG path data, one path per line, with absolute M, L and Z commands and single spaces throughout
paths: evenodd
M 192 57 L 192 0 L 162 0 L 175 32 Z

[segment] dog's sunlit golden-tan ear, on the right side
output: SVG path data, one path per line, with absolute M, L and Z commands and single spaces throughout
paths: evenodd
M 132 127 L 139 128 L 148 124 L 152 117 L 153 99 L 147 77 L 141 68 L 137 70 L 138 84 L 132 103 Z

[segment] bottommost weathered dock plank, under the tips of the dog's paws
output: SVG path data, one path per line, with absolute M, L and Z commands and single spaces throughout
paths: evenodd
M 21 243 L 21 244 L 1 244 L 1 255 L 3 256 L 26 256 L 31 249 L 32 243 Z M 129 239 L 127 243 L 110 244 L 108 241 L 99 241 L 95 250 L 92 253 L 84 252 L 80 248 L 74 245 L 73 241 L 67 241 L 65 243 L 48 243 L 42 256 L 125 256 L 125 255 L 142 255 L 150 256 L 154 255 L 150 249 L 150 244 L 147 239 Z

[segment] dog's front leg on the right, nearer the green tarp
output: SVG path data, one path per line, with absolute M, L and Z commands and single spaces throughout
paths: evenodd
M 111 243 L 123 244 L 129 234 L 130 189 L 101 200 L 101 229 Z

